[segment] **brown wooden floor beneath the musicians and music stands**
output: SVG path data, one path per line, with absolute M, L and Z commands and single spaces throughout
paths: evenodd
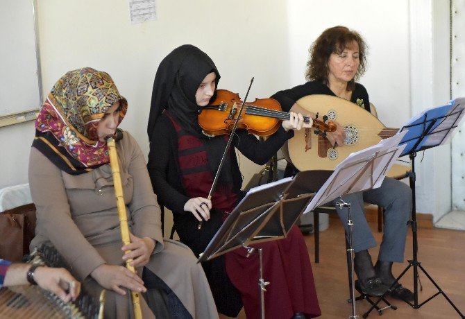
M 373 234 L 381 241 L 382 234 L 376 230 L 376 224 L 370 223 Z M 312 260 L 316 291 L 322 316 L 319 318 L 348 318 L 352 308 L 348 304 L 348 278 L 344 247 L 344 231 L 339 223 L 330 221 L 328 230 L 320 235 L 320 263 L 314 261 L 314 237 L 312 234 L 305 236 L 305 242 Z M 443 229 L 418 229 L 418 261 L 428 274 L 440 286 L 450 300 L 455 303 L 459 311 L 465 313 L 465 232 Z M 371 251 L 375 260 L 378 249 Z M 412 231 L 407 235 L 405 250 L 405 262 L 394 264 L 394 273 L 399 275 L 407 266 L 407 259 L 412 258 Z M 437 293 L 437 288 L 428 277 L 419 271 L 419 277 L 423 290 L 418 288 L 418 304 Z M 405 286 L 413 289 L 413 267 L 407 270 L 400 280 Z M 266 297 L 265 297 L 266 298 Z M 382 318 L 460 318 L 459 314 L 447 302 L 443 295 L 438 295 L 419 309 L 413 309 L 400 300 L 388 298 L 397 310 L 386 309 Z M 362 314 L 370 307 L 369 303 L 360 300 L 356 302 L 356 314 L 362 318 Z M 220 317 L 226 318 L 226 317 Z M 237 318 L 246 318 L 244 311 Z M 373 311 L 369 318 L 378 318 L 378 313 Z

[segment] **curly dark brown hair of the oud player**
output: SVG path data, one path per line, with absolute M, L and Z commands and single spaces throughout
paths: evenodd
M 362 36 L 356 31 L 349 30 L 345 26 L 334 26 L 328 28 L 310 46 L 310 60 L 307 62 L 305 78 L 307 80 L 328 81 L 329 67 L 328 61 L 332 53 L 340 54 L 351 42 L 357 42 L 359 47 L 360 66 L 354 78 L 348 83 L 347 89 L 352 89 L 355 80 L 358 80 L 366 71 L 366 46 Z

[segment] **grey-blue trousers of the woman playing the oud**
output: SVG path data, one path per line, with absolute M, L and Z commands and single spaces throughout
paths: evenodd
M 364 215 L 364 202 L 369 202 L 384 207 L 384 234 L 378 260 L 403 262 L 407 221 L 412 214 L 410 187 L 394 178 L 384 178 L 380 188 L 342 196 L 342 199 L 350 203 L 350 217 L 354 224 L 352 243 L 355 252 L 377 245 Z M 334 200 L 338 201 L 339 198 Z M 336 211 L 347 234 L 347 208 L 340 209 L 336 206 Z

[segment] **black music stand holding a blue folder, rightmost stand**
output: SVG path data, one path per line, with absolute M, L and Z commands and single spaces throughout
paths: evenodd
M 384 295 L 388 293 L 396 284 L 407 270 L 413 266 L 414 270 L 414 303 L 404 300 L 407 304 L 412 306 L 414 309 L 419 309 L 423 304 L 429 302 L 437 295 L 442 294 L 444 298 L 450 303 L 450 305 L 459 313 L 462 318 L 465 318 L 464 315 L 459 311 L 455 304 L 448 298 L 446 293 L 442 291 L 439 285 L 434 282 L 434 279 L 428 274 L 428 272 L 421 266 L 421 263 L 418 261 L 418 237 L 417 237 L 417 225 L 416 225 L 416 197 L 415 197 L 415 157 L 416 153 L 421 150 L 426 150 L 428 148 L 433 148 L 442 144 L 446 144 L 453 135 L 453 131 L 459 125 L 462 117 L 464 116 L 464 107 L 465 107 L 465 98 L 456 98 L 453 101 L 448 102 L 446 105 L 441 107 L 434 107 L 430 110 L 426 110 L 421 114 L 418 114 L 416 117 L 410 119 L 410 121 L 400 129 L 400 132 L 408 130 L 405 137 L 400 141 L 400 145 L 405 145 L 405 149 L 400 156 L 409 155 L 410 160 L 412 161 L 412 172 L 409 173 L 410 187 L 412 188 L 412 220 L 409 221 L 409 225 L 412 226 L 412 235 L 413 235 L 413 259 L 409 260 L 409 265 L 402 273 L 396 278 L 396 281 L 391 284 L 389 289 L 378 298 L 378 301 L 373 304 L 373 306 L 366 312 L 366 315 L 373 310 L 374 307 L 380 302 Z M 423 271 L 423 273 L 430 279 L 430 282 L 434 284 L 438 292 L 432 295 L 430 298 L 418 304 L 418 268 Z

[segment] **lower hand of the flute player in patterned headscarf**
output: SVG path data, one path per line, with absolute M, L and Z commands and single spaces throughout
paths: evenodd
M 90 274 L 105 289 L 115 291 L 120 295 L 126 295 L 123 288 L 145 293 L 147 289 L 144 282 L 137 274 L 128 268 L 116 265 L 102 264 Z

